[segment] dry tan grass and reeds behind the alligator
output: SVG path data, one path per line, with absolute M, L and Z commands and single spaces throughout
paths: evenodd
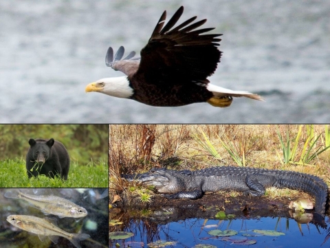
M 285 169 L 320 176 L 330 185 L 328 125 L 110 125 L 109 131 L 110 195 L 136 196 L 120 174 L 151 167 Z

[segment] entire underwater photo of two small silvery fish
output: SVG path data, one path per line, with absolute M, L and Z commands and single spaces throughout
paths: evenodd
M 0 189 L 1 247 L 108 247 L 107 188 Z

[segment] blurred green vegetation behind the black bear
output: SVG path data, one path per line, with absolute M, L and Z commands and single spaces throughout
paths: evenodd
M 0 160 L 25 160 L 30 138 L 54 138 L 79 165 L 108 159 L 108 125 L 0 125 Z

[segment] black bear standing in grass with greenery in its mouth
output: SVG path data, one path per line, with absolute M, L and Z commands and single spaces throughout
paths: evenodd
M 39 174 L 54 178 L 61 176 L 67 180 L 70 158 L 65 146 L 54 138 L 30 138 L 30 148 L 26 154 L 26 171 L 29 178 Z

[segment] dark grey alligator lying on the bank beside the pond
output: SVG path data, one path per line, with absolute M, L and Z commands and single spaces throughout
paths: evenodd
M 266 187 L 301 189 L 316 198 L 315 211 L 325 216 L 328 186 L 318 176 L 300 172 L 252 167 L 219 166 L 208 169 L 176 171 L 153 168 L 143 174 L 124 176 L 152 185 L 168 199 L 200 198 L 205 192 L 232 189 L 252 196 L 263 196 Z

